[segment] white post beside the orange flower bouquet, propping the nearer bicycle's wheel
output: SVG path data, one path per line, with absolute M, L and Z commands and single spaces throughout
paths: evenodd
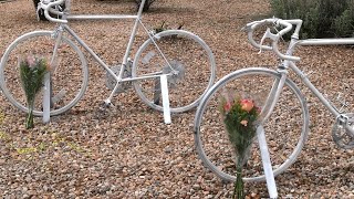
M 262 125 L 258 126 L 258 128 L 257 128 L 257 137 L 258 137 L 259 148 L 261 150 L 261 157 L 262 157 L 262 163 L 263 163 L 263 169 L 264 169 L 269 197 L 270 198 L 278 198 L 274 174 L 273 174 L 272 165 L 270 161 L 264 128 Z

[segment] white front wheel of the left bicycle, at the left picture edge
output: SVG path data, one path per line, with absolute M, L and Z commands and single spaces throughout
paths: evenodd
M 19 57 L 41 56 L 51 63 L 51 115 L 66 112 L 83 96 L 88 81 L 86 60 L 80 49 L 62 36 L 53 55 L 56 36 L 50 31 L 34 31 L 18 38 L 3 54 L 0 63 L 0 83 L 4 96 L 11 104 L 28 112 L 25 94 L 21 85 Z M 37 116 L 43 114 L 43 92 L 35 98 Z

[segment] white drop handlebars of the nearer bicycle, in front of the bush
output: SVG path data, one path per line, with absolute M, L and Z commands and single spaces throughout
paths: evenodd
M 254 46 L 258 48 L 260 50 L 271 50 L 273 51 L 280 59 L 282 60 L 291 60 L 291 61 L 300 61 L 300 57 L 298 56 L 291 56 L 291 55 L 285 55 L 283 53 L 281 53 L 278 49 L 278 41 L 279 39 L 284 35 L 285 33 L 288 33 L 289 31 L 292 30 L 292 21 L 290 20 L 281 20 L 281 19 L 277 19 L 277 18 L 271 18 L 271 19 L 264 19 L 261 21 L 253 21 L 250 22 L 246 25 L 246 31 L 248 32 L 248 40 L 249 42 Z M 275 24 L 275 25 L 282 25 L 285 27 L 284 29 L 282 29 L 281 31 L 279 31 L 277 34 L 273 34 L 270 32 L 270 29 L 268 28 L 263 38 L 261 39 L 260 43 L 257 43 L 253 39 L 253 31 L 262 24 Z M 272 45 L 263 45 L 263 41 L 269 38 L 272 40 Z

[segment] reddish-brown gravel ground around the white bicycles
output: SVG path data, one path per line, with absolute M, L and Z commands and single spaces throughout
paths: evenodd
M 75 13 L 132 13 L 131 0 L 75 0 Z M 261 0 L 158 0 L 144 21 L 155 28 L 184 23 L 214 50 L 218 78 L 248 65 L 274 65 L 271 53 L 257 55 L 240 28 L 267 14 Z M 52 29 L 35 20 L 32 1 L 0 3 L 0 55 L 24 32 Z M 121 23 L 118 23 L 121 24 Z M 121 59 L 125 43 L 111 44 L 117 25 L 111 21 L 73 22 L 72 27 L 108 62 Z M 118 33 L 128 33 L 123 23 Z M 116 33 L 116 35 L 115 35 Z M 142 34 L 143 35 L 143 34 Z M 124 39 L 124 36 L 123 36 Z M 144 41 L 140 34 L 138 42 Z M 119 40 L 117 40 L 119 41 Z M 114 45 L 114 48 L 112 48 Z M 352 48 L 302 48 L 302 69 L 313 71 L 311 81 L 330 98 L 354 84 Z M 113 56 L 114 55 L 114 56 Z M 117 108 L 97 117 L 98 104 L 108 95 L 104 72 L 90 61 L 90 86 L 84 98 L 49 125 L 35 121 L 24 129 L 24 114 L 0 95 L 0 196 L 2 198 L 230 198 L 232 185 L 222 184 L 206 169 L 194 148 L 195 112 L 163 115 L 145 106 L 134 92 L 114 100 Z M 346 98 L 353 101 L 353 86 Z M 333 118 L 308 90 L 311 134 L 298 161 L 275 178 L 281 198 L 354 198 L 354 150 L 332 142 Z M 317 106 L 319 105 L 319 106 Z M 350 107 L 353 112 L 353 106 Z M 248 197 L 267 198 L 266 182 L 246 184 Z

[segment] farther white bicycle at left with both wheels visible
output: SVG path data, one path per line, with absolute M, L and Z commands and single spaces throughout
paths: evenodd
M 214 54 L 199 36 L 188 31 L 166 30 L 157 33 L 147 30 L 142 22 L 145 2 L 142 1 L 136 15 L 74 15 L 70 14 L 70 0 L 41 0 L 38 8 L 44 10 L 48 20 L 59 25 L 53 31 L 25 33 L 9 45 L 0 63 L 0 85 L 4 96 L 15 107 L 27 112 L 18 60 L 21 55 L 37 54 L 48 57 L 51 65 L 50 115 L 69 111 L 80 101 L 87 87 L 87 62 L 80 49 L 83 48 L 107 71 L 106 85 L 113 91 L 104 101 L 106 106 L 112 105 L 111 100 L 116 93 L 124 92 L 133 84 L 145 104 L 163 111 L 159 77 L 167 75 L 170 112 L 180 113 L 196 107 L 201 96 L 214 84 Z M 61 9 L 61 4 L 65 4 L 64 10 Z M 60 17 L 54 19 L 51 15 Z M 69 27 L 71 20 L 133 20 L 122 64 L 108 66 Z M 138 27 L 146 32 L 147 40 L 132 61 L 129 55 Z M 35 101 L 33 114 L 43 115 L 42 95 Z

